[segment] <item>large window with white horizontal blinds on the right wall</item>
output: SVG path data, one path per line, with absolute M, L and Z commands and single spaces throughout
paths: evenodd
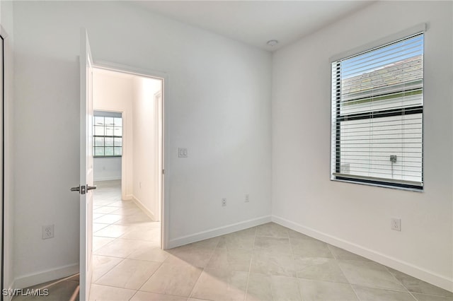
M 423 188 L 423 33 L 333 61 L 331 179 Z

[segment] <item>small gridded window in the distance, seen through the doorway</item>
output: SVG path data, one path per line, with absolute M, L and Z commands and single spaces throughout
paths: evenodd
M 119 157 L 122 155 L 121 113 L 94 113 L 93 154 L 95 157 Z

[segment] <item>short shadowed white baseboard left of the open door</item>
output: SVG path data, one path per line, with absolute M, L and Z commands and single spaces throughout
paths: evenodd
M 40 273 L 34 273 L 25 275 L 14 279 L 12 288 L 28 288 L 31 285 L 37 285 L 52 281 L 59 278 L 68 277 L 79 273 L 79 264 L 70 264 L 69 266 L 60 266 L 59 268 L 53 268 L 52 270 L 42 271 Z

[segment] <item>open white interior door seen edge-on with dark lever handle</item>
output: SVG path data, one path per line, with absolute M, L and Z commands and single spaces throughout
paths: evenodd
M 93 60 L 86 29 L 80 54 L 80 295 L 88 300 L 93 253 Z

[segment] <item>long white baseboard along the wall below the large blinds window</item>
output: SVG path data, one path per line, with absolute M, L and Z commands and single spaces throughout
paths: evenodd
M 343 240 L 339 237 L 334 237 L 333 235 L 328 235 L 326 233 L 314 230 L 304 225 L 294 223 L 285 218 L 272 216 L 272 221 L 294 231 L 301 232 L 304 235 L 314 237 L 317 240 L 327 242 L 328 244 L 333 244 L 336 247 L 345 249 L 354 254 L 363 256 L 367 259 L 379 262 L 379 264 L 384 264 L 384 266 L 389 266 L 390 268 L 394 268 L 397 271 L 401 271 L 410 276 L 431 283 L 432 285 L 436 285 L 440 288 L 453 292 L 453 278 L 447 278 L 432 271 L 428 271 L 425 268 L 421 268 L 420 266 L 415 266 L 401 259 L 396 259 L 392 256 L 388 256 L 386 254 L 376 252 L 372 249 L 362 247 L 359 244 L 354 244 L 352 242 L 348 242 L 347 240 Z

